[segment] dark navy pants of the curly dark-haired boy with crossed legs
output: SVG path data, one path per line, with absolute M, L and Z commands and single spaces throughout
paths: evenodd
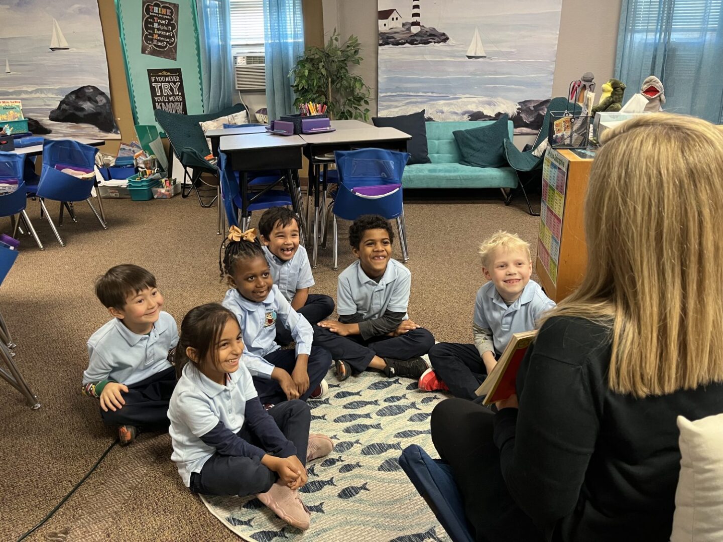
M 353 374 L 366 371 L 374 356 L 410 359 L 424 356 L 435 344 L 435 337 L 424 327 L 417 327 L 398 337 L 380 335 L 364 340 L 361 335 L 342 337 L 323 327 L 314 326 L 314 344 L 331 353 L 332 359 L 343 359 Z

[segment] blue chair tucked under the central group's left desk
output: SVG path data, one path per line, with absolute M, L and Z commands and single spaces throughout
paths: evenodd
M 247 201 L 244 202 L 241 197 L 241 185 L 239 183 L 239 172 L 234 171 L 231 167 L 231 160 L 226 152 L 218 152 L 218 178 L 221 181 L 221 200 L 223 208 L 226 210 L 226 219 L 229 225 L 241 227 L 246 230 L 251 222 L 252 211 L 269 209 L 270 207 L 286 207 L 291 206 L 291 196 L 283 190 L 273 190 L 278 176 L 257 177 L 249 182 L 249 188 L 253 188 L 254 183 L 257 185 L 265 185 L 258 192 L 247 193 Z M 273 184 L 267 184 L 273 179 Z M 239 225 L 239 216 L 241 217 L 241 225 Z

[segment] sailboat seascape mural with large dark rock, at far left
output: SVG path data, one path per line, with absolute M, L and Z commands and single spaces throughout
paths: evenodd
M 0 0 L 0 20 L 0 100 L 33 134 L 120 139 L 98 0 Z

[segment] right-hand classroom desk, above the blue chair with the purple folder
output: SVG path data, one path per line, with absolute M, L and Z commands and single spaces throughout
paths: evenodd
M 333 163 L 333 158 L 327 158 L 335 150 L 351 150 L 353 148 L 377 147 L 382 149 L 406 151 L 406 142 L 411 135 L 396 128 L 371 126 L 361 121 L 331 121 L 336 132 L 325 134 L 301 134 L 306 147 L 304 156 L 309 159 L 309 186 L 314 189 L 314 228 L 312 230 L 312 267 L 317 266 L 317 251 L 319 245 L 319 167 Z M 324 179 L 326 188 L 326 178 Z

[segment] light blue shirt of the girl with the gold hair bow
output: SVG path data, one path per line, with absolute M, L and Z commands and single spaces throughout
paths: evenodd
M 244 336 L 246 366 L 254 377 L 271 378 L 274 366 L 264 358 L 281 346 L 276 344 L 276 319 L 291 332 L 296 342 L 296 356 L 312 352 L 314 330 L 306 318 L 291 308 L 281 295 L 277 285 L 271 287 L 268 296 L 257 303 L 241 296 L 236 288 L 226 292 L 223 306 L 236 314 Z

